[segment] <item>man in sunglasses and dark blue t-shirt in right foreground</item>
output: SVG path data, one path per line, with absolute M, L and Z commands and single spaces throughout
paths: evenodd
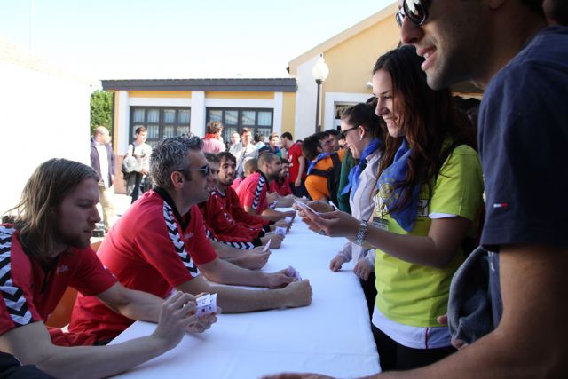
M 485 89 L 481 244 L 490 251 L 493 330 L 431 366 L 384 377 L 568 376 L 568 28 L 547 28 L 542 4 L 399 2 L 401 40 L 424 57 L 430 87 L 471 81 Z M 280 375 L 298 377 L 322 376 Z

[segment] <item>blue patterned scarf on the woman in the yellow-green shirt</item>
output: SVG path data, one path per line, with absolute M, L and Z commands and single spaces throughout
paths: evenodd
M 394 218 L 406 232 L 410 232 L 416 220 L 416 210 L 418 209 L 418 194 L 420 186 L 414 186 L 410 196 L 410 202 L 403 209 L 391 211 L 398 204 L 399 199 L 403 199 L 406 195 L 406 188 L 394 188 L 395 183 L 406 178 L 406 167 L 408 166 L 408 158 L 412 153 L 412 148 L 406 145 L 403 139 L 402 145 L 398 147 L 397 153 L 394 155 L 394 161 L 388 168 L 383 171 L 381 178 L 377 183 L 379 195 L 384 201 L 386 208 L 389 210 L 390 217 Z M 385 198 L 386 197 L 386 198 Z

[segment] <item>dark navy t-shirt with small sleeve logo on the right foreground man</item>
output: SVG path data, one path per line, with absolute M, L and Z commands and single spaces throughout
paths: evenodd
M 568 246 L 568 28 L 543 29 L 493 77 L 479 111 L 481 243 Z M 499 254 L 490 254 L 495 326 Z

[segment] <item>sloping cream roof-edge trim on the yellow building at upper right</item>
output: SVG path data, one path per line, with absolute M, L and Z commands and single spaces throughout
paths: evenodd
M 344 41 L 352 38 L 353 36 L 357 36 L 367 28 L 374 27 L 377 23 L 390 19 L 392 23 L 396 26 L 396 22 L 393 18 L 395 12 L 398 11 L 398 2 L 393 2 L 389 6 L 383 8 L 383 10 L 376 12 L 371 17 L 368 17 L 365 20 L 362 20 L 358 24 L 344 30 L 342 33 L 329 38 L 324 43 L 319 43 L 316 47 L 312 48 L 309 51 L 304 52 L 304 54 L 300 55 L 299 57 L 292 59 L 288 63 L 289 73 L 292 76 L 297 75 L 297 67 L 300 66 L 302 63 L 313 59 L 314 57 L 318 56 L 321 52 L 326 52 L 326 60 L 327 60 L 327 51 L 334 48 L 337 44 L 343 43 Z M 398 26 L 397 26 L 398 29 Z M 375 46 L 368 46 L 370 50 L 379 51 Z

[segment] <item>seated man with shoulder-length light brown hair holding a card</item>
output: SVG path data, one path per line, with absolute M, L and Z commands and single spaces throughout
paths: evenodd
M 58 378 L 120 374 L 173 349 L 186 331 L 202 332 L 216 321 L 215 316 L 194 314 L 193 296 L 177 293 L 164 302 L 117 282 L 90 246 L 100 221 L 98 202 L 99 175 L 91 167 L 51 159 L 28 179 L 20 203 L 12 209 L 17 210 L 15 224 L 0 225 L 0 350 Z M 95 343 L 95 336 L 64 333 L 44 324 L 67 286 L 96 296 L 131 320 L 158 325 L 151 336 L 113 346 L 85 346 Z M 13 363 L 2 377 L 15 377 L 14 368 L 20 371 Z M 18 374 L 34 377 L 29 371 Z

